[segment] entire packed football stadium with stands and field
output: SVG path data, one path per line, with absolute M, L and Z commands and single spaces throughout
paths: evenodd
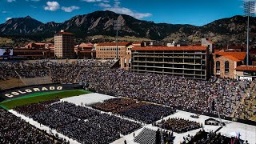
M 254 81 L 141 74 L 117 62 L 0 62 L 0 143 L 256 143 Z

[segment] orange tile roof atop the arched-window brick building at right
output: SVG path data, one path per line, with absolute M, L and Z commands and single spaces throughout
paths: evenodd
M 217 55 L 221 55 L 223 57 L 226 57 L 226 58 L 230 58 L 234 61 L 243 61 L 245 58 L 246 58 L 246 52 L 224 52 L 224 51 L 219 51 L 219 52 L 216 52 L 214 54 L 217 54 Z

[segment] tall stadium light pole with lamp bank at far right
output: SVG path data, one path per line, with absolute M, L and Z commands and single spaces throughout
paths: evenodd
M 249 20 L 250 17 L 254 16 L 254 7 L 255 7 L 255 2 L 251 0 L 244 0 L 243 2 L 243 12 L 245 16 L 247 17 L 247 49 L 246 49 L 246 66 L 249 66 L 249 33 L 250 33 L 250 24 Z

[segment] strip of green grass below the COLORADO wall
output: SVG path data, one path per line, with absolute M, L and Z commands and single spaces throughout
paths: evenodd
M 16 106 L 23 106 L 30 103 L 38 103 L 43 101 L 49 101 L 56 98 L 68 98 L 72 96 L 78 96 L 81 94 L 89 94 L 90 91 L 86 90 L 62 90 L 45 93 L 29 94 L 23 97 L 10 99 L 0 103 L 0 106 L 6 110 L 13 109 Z

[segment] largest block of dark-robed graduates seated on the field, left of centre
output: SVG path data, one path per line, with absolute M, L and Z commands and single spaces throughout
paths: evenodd
M 141 127 L 136 122 L 69 102 L 44 102 L 26 107 L 30 107 L 31 111 L 24 109 L 24 106 L 15 110 L 81 143 L 113 142 L 120 138 L 120 134 L 130 134 Z M 34 113 L 33 107 L 37 113 Z

